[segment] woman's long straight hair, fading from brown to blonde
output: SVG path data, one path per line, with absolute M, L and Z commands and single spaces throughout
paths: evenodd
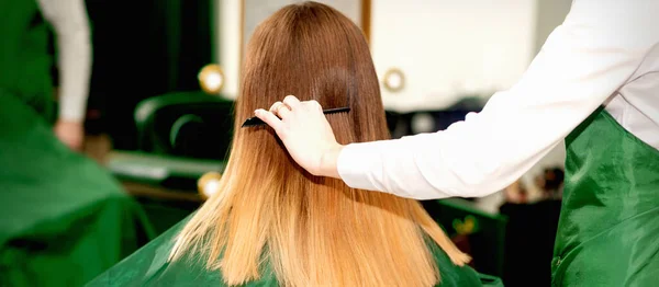
M 454 263 L 469 260 L 417 202 L 313 176 L 272 129 L 239 127 L 257 107 L 295 94 L 350 107 L 327 116 L 342 144 L 389 138 L 368 45 L 350 20 L 315 2 L 279 10 L 250 39 L 242 88 L 220 187 L 170 260 L 203 254 L 230 285 L 259 279 L 269 264 L 283 286 L 432 286 L 439 280 L 433 241 Z

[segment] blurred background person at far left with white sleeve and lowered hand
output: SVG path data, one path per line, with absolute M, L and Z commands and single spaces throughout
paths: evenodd
M 85 2 L 7 0 L 2 5 L 5 16 L 1 28 L 0 89 L 31 106 L 45 120 L 55 120 L 57 138 L 70 149 L 80 150 L 91 71 Z M 58 83 L 51 74 L 54 60 L 48 50 L 47 24 L 56 33 Z M 54 87 L 58 89 L 54 91 Z

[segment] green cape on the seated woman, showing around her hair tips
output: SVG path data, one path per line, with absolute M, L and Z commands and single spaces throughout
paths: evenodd
M 174 239 L 187 221 L 188 219 L 182 220 L 87 286 L 226 286 L 220 272 L 204 268 L 205 261 L 202 259 L 188 257 L 174 263 L 167 262 Z M 480 275 L 470 267 L 454 265 L 448 255 L 436 245 L 433 246 L 433 252 L 442 275 L 442 284 L 438 286 L 503 286 L 499 278 Z M 271 269 L 266 267 L 259 280 L 245 286 L 278 286 L 278 283 Z

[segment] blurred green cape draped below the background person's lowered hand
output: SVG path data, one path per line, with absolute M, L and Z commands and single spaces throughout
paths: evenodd
M 105 170 L 0 89 L 0 286 L 82 286 L 152 237 Z

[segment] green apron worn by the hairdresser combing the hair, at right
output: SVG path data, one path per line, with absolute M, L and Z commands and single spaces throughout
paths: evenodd
M 555 286 L 659 286 L 659 151 L 599 110 L 566 138 Z

